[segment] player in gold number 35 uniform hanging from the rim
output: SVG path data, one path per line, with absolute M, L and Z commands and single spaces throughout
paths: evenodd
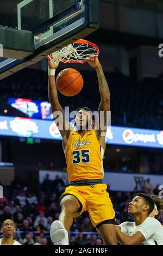
M 98 113 L 100 114 L 101 111 L 105 113 L 106 126 L 106 112 L 110 111 L 108 83 L 98 58 L 92 58 L 88 63 L 95 68 L 97 73 L 101 95 Z M 109 194 L 106 192 L 106 185 L 102 180 L 106 129 L 105 131 L 95 129 L 97 126 L 89 108 L 77 109 L 76 131 L 65 121 L 65 114 L 59 103 L 55 86 L 54 72 L 57 67 L 58 63 L 53 64 L 49 61 L 48 94 L 53 115 L 59 111 L 64 117 L 64 126 L 62 118 L 54 118 L 54 120 L 62 136 L 70 186 L 60 197 L 61 213 L 59 221 L 52 223 L 51 239 L 54 245 L 68 245 L 68 231 L 73 223 L 73 218 L 78 218 L 87 210 L 92 225 L 98 229 L 104 244 L 117 245 L 115 211 L 112 208 Z

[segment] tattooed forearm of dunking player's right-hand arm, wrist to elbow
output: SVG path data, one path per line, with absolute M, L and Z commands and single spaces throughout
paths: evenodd
M 102 66 L 99 65 L 98 68 L 96 68 L 97 77 L 98 77 L 98 84 L 99 84 L 99 93 L 101 95 L 101 101 L 110 101 L 110 92 L 109 92 L 109 86 L 106 81 Z

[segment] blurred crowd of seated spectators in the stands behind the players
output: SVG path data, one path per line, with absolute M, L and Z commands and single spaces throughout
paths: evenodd
M 22 245 L 33 245 L 35 242 L 52 245 L 49 230 L 52 222 L 58 220 L 59 197 L 65 190 L 65 184 L 66 181 L 60 176 L 57 175 L 51 180 L 47 174 L 40 184 L 40 192 L 34 194 L 17 180 L 12 181 L 10 186 L 4 188 L 4 197 L 0 199 L 0 225 L 4 220 L 13 220 L 17 230 L 15 239 Z M 149 179 L 144 187 L 135 187 L 133 192 L 110 191 L 108 185 L 116 212 L 116 224 L 133 221 L 133 217 L 128 215 L 128 204 L 137 191 L 158 194 L 158 186 L 154 188 Z M 160 221 L 163 224 L 163 216 Z M 74 219 L 70 231 L 70 245 L 102 245 L 101 237 L 92 227 L 87 212 Z

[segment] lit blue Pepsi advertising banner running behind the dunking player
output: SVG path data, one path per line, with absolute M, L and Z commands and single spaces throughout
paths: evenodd
M 5 116 L 0 116 L 0 136 L 61 140 L 54 121 Z M 163 148 L 163 131 L 111 126 L 105 140 L 106 144 Z

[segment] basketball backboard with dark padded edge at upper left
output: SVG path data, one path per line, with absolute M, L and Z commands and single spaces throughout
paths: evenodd
M 95 31 L 98 2 L 1 0 L 0 79 Z

